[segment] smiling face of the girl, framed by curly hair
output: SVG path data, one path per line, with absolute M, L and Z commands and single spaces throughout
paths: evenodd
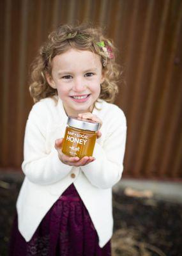
M 67 115 L 91 112 L 104 81 L 100 56 L 77 49 L 56 55 L 52 60 L 52 76 L 47 75 L 47 81 L 57 89 Z

